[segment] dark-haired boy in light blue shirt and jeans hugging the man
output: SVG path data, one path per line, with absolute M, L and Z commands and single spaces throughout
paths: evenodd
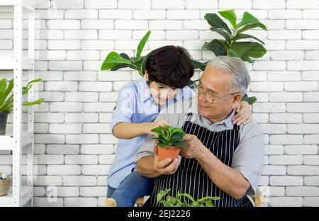
M 195 95 L 186 86 L 194 67 L 184 48 L 164 46 L 150 52 L 145 70 L 144 79 L 130 82 L 119 91 L 111 121 L 113 135 L 120 140 L 108 175 L 107 197 L 116 200 L 117 206 L 133 206 L 136 199 L 150 195 L 152 179 L 135 171 L 135 154 L 147 135 L 154 135 L 152 128 L 167 124 L 164 120 L 154 122 L 162 108 Z M 249 120 L 250 107 L 242 103 L 237 120 Z

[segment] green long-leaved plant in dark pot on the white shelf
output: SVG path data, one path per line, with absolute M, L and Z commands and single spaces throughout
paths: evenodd
M 35 79 L 28 82 L 27 86 L 22 88 L 22 95 L 27 94 L 28 91 L 32 88 L 33 83 L 39 82 L 41 79 Z M 0 80 L 0 135 L 6 132 L 6 120 L 8 114 L 13 111 L 13 94 L 11 91 L 13 89 L 13 79 L 7 85 L 6 79 Z M 10 96 L 9 96 L 10 95 Z M 32 106 L 40 104 L 44 101 L 43 98 L 39 98 L 36 101 L 30 101 L 22 103 L 22 106 Z

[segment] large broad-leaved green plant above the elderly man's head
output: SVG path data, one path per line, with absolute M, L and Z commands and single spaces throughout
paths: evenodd
M 244 34 L 245 31 L 252 28 L 267 30 L 267 27 L 260 23 L 257 18 L 245 11 L 242 21 L 237 23 L 237 16 L 234 10 L 218 11 L 218 13 L 230 22 L 232 28 L 229 28 L 227 23 L 216 13 L 206 13 L 204 18 L 211 26 L 211 31 L 220 34 L 223 39 L 214 39 L 211 42 L 206 42 L 203 45 L 203 49 L 213 51 L 216 56 L 239 57 L 241 60 L 250 63 L 254 62 L 252 58 L 259 58 L 266 54 L 267 50 L 264 48 L 262 40 L 253 35 Z

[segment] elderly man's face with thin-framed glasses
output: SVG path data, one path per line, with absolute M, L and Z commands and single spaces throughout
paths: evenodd
M 199 90 L 196 91 L 200 115 L 211 121 L 223 120 L 228 116 L 233 109 L 234 102 L 231 94 L 233 91 L 230 91 L 229 88 L 232 79 L 230 74 L 213 67 L 208 67 L 203 72 L 198 83 Z M 198 93 L 198 91 L 203 92 Z

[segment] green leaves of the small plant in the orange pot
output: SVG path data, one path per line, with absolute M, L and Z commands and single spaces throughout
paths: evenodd
M 183 140 L 185 135 L 184 130 L 180 128 L 171 128 L 169 125 L 164 125 L 164 127 L 159 126 L 153 128 L 152 132 L 157 132 L 158 137 L 153 137 L 152 140 L 157 140 L 157 147 L 171 147 L 177 146 L 185 148 L 186 144 Z

